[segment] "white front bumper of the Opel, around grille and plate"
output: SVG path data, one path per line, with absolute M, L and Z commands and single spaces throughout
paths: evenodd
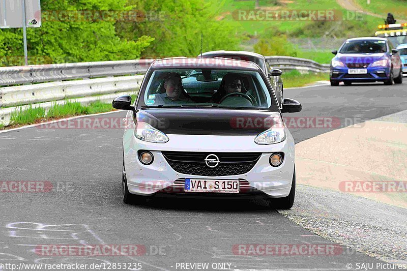
M 124 140 L 124 158 L 129 192 L 146 196 L 177 194 L 179 196 L 205 198 L 243 196 L 278 198 L 288 196 L 294 173 L 294 139 L 288 130 L 286 130 L 286 134 L 286 140 L 272 145 L 257 145 L 253 142 L 255 136 L 167 135 L 170 140 L 165 144 L 149 143 L 131 136 L 127 141 Z M 141 164 L 138 159 L 138 150 L 149 150 L 154 156 L 153 163 L 150 165 Z M 214 177 L 182 174 L 175 171 L 163 156 L 163 151 L 257 152 L 261 155 L 247 173 Z M 270 155 L 275 152 L 284 153 L 283 163 L 278 167 L 273 167 L 269 163 Z M 185 178 L 239 179 L 240 192 L 237 194 L 184 192 L 183 182 Z

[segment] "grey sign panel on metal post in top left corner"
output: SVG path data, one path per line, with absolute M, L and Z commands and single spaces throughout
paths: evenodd
M 28 65 L 27 27 L 41 27 L 40 0 L 0 0 L 0 28 L 22 28 L 25 65 Z

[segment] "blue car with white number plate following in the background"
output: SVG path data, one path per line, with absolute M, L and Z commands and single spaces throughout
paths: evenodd
M 381 81 L 386 85 L 401 84 L 403 79 L 398 51 L 386 38 L 353 38 L 346 40 L 331 61 L 331 85 Z

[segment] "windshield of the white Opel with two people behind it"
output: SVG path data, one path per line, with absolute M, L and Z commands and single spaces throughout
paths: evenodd
M 272 96 L 257 71 L 156 70 L 141 94 L 147 107 L 270 108 Z

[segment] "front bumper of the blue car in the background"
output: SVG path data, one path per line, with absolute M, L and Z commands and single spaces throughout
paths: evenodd
M 331 67 L 329 77 L 337 81 L 375 82 L 390 78 L 390 67 L 367 67 L 367 74 L 349 74 L 347 67 Z

